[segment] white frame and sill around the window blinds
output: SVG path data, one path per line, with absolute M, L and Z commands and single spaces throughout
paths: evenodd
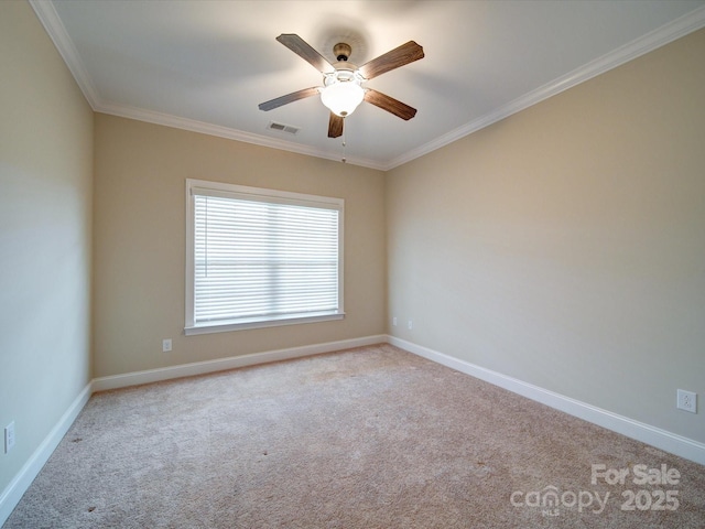
M 246 198 L 254 202 L 293 204 L 308 207 L 337 209 L 338 213 L 338 307 L 335 311 L 316 313 L 315 315 L 285 315 L 265 319 L 250 319 L 241 321 L 204 322 L 195 323 L 195 199 L 198 194 L 224 196 L 232 198 Z M 184 333 L 188 335 L 237 331 L 245 328 L 271 327 L 279 325 L 293 325 L 313 323 L 345 317 L 343 304 L 344 283 L 344 207 L 343 198 L 334 198 L 318 195 L 306 195 L 276 190 L 249 187 L 245 185 L 227 184 L 223 182 L 208 182 L 204 180 L 186 180 L 186 324 Z

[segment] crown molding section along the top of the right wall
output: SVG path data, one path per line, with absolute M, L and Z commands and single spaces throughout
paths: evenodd
M 617 66 L 621 66 L 629 61 L 632 61 L 641 55 L 652 52 L 670 42 L 673 42 L 682 36 L 687 35 L 694 31 L 697 31 L 705 26 L 705 6 L 697 8 L 690 13 L 675 19 L 674 21 L 655 29 L 654 31 L 647 33 L 646 35 L 625 44 L 621 47 L 614 50 L 610 53 L 603 55 L 589 63 L 567 73 L 566 75 L 558 77 L 528 94 L 514 99 L 513 101 L 498 108 L 496 111 L 482 116 L 478 119 L 470 121 L 469 123 L 458 127 L 451 132 L 443 134 L 435 140 L 430 141 L 416 149 L 413 149 L 405 154 L 402 154 L 394 160 L 391 160 L 388 165 L 384 166 L 384 171 L 392 170 L 408 163 L 416 158 L 421 158 L 432 151 L 441 149 L 454 141 L 459 140 L 466 136 L 477 132 L 485 127 L 488 127 L 497 121 L 508 118 L 512 114 L 517 114 L 538 102 L 543 101 L 552 96 L 555 96 L 562 91 L 573 88 L 574 86 L 585 83 L 593 77 L 597 77 L 605 72 L 608 72 Z

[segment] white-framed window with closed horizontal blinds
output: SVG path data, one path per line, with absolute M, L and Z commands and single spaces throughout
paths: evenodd
M 186 334 L 343 319 L 341 198 L 186 181 Z

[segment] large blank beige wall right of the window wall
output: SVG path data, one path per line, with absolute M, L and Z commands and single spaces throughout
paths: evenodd
M 705 442 L 705 30 L 391 171 L 400 338 Z M 413 320 L 413 328 L 405 327 Z

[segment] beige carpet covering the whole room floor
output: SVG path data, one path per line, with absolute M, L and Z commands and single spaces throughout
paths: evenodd
M 6 527 L 699 528 L 705 468 L 379 345 L 97 393 Z

